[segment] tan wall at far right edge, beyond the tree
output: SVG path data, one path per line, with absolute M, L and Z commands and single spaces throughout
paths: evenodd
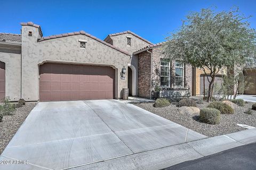
M 256 69 L 244 70 L 244 94 L 256 94 Z

